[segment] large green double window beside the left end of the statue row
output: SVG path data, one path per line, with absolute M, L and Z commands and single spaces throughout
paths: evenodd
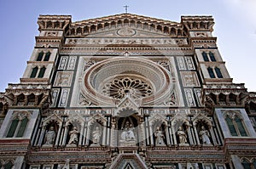
M 28 118 L 26 115 L 16 115 L 11 121 L 6 138 L 22 138 L 25 131 Z

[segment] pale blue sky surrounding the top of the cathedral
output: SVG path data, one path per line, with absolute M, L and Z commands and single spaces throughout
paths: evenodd
M 233 82 L 256 92 L 255 0 L 0 0 L 0 91 L 20 82 L 38 35 L 39 14 L 71 14 L 73 21 L 125 12 L 180 21 L 181 15 L 212 15 L 213 35 Z

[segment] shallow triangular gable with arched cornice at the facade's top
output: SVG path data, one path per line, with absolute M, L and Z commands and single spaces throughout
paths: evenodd
M 66 36 L 90 37 L 186 37 L 181 23 L 137 14 L 116 14 L 71 23 Z

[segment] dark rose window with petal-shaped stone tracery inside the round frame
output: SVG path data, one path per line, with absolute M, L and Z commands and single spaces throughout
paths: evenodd
M 152 87 L 141 79 L 119 78 L 108 82 L 102 87 L 102 94 L 115 99 L 123 99 L 130 95 L 133 99 L 148 97 L 153 93 Z

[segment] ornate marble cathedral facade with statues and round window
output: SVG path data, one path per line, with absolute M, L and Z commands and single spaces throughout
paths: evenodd
M 256 168 L 256 93 L 232 82 L 213 25 L 40 15 L 0 93 L 0 168 Z

